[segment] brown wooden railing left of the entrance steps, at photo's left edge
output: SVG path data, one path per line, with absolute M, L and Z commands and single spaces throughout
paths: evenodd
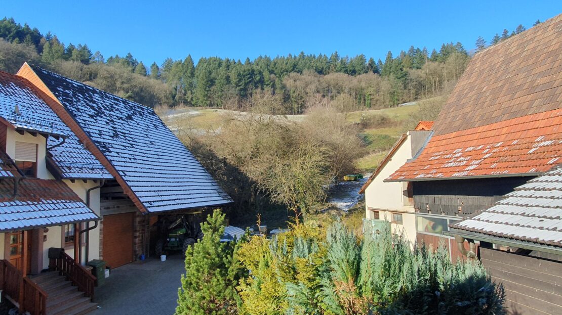
M 45 315 L 47 293 L 28 277 L 22 277 L 21 272 L 6 259 L 0 260 L 0 289 L 19 304 L 20 313 Z

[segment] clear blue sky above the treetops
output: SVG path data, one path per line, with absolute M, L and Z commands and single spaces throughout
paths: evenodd
M 364 53 L 384 60 L 410 45 L 472 49 L 478 36 L 529 28 L 562 13 L 562 1 L 10 1 L 0 15 L 86 43 L 106 58 L 131 52 L 148 65 L 183 59 Z M 472 3 L 472 5 L 469 5 Z

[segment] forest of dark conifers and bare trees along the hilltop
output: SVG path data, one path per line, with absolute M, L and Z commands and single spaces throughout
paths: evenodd
M 512 34 L 522 30 L 520 25 Z M 506 31 L 496 42 L 510 36 Z M 482 41 L 478 49 L 486 47 Z M 279 114 L 327 103 L 342 112 L 393 107 L 446 94 L 469 58 L 457 42 L 432 52 L 411 46 L 398 56 L 388 52 L 384 61 L 364 54 L 301 52 L 243 62 L 203 57 L 197 64 L 188 55 L 147 66 L 130 53 L 105 58 L 85 43 L 65 45 L 50 31 L 43 35 L 12 18 L 0 20 L 0 70 L 13 73 L 28 61 L 149 107 L 257 108 Z

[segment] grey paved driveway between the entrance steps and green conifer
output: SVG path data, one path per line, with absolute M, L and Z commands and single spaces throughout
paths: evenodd
M 95 302 L 100 308 L 90 314 L 171 315 L 184 268 L 180 254 L 167 257 L 165 262 L 149 258 L 115 268 L 105 285 L 96 287 Z

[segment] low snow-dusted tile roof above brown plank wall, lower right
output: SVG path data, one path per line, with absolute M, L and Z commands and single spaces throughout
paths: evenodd
M 494 206 L 451 228 L 562 247 L 562 168 L 515 188 Z

